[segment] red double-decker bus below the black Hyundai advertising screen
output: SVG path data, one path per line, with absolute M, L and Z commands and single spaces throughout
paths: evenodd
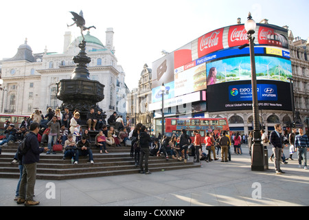
M 207 132 L 214 131 L 215 135 L 221 131 L 229 133 L 229 124 L 227 118 L 165 118 L 165 134 L 181 135 L 182 129 L 187 131 L 192 141 L 194 140 L 193 131 L 198 131 L 201 141 L 204 142 Z

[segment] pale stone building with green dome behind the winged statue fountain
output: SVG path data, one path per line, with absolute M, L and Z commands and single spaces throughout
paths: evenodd
M 109 116 L 113 111 L 126 114 L 126 94 L 128 87 L 124 83 L 125 72 L 118 65 L 113 46 L 113 28 L 106 30 L 106 43 L 103 43 L 88 32 L 87 56 L 91 58 L 88 65 L 90 79 L 98 80 L 105 85 L 104 100 L 99 107 Z M 27 40 L 19 46 L 13 58 L 1 61 L 1 78 L 3 91 L 0 94 L 0 113 L 30 115 L 34 109 L 43 113 L 48 107 L 56 109 L 62 103 L 56 98 L 56 83 L 71 78 L 75 68 L 72 58 L 79 52 L 79 36 L 71 41 L 71 32 L 65 32 L 63 52 L 45 51 L 32 54 Z

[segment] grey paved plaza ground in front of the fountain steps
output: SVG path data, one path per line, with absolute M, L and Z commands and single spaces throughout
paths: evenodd
M 242 151 L 235 155 L 232 147 L 231 162 L 203 161 L 200 168 L 150 175 L 38 179 L 34 199 L 38 206 L 309 206 L 309 170 L 298 168 L 297 153 L 281 165 L 286 173 L 276 175 L 269 160 L 269 170 L 251 171 L 247 145 Z M 13 200 L 17 182 L 0 178 L 0 206 L 23 206 Z

